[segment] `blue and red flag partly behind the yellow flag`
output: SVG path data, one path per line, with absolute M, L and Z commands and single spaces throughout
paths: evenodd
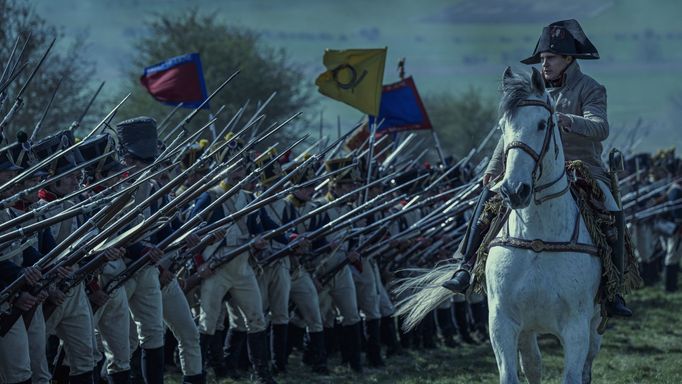
M 384 121 L 377 129 L 377 133 L 381 134 L 432 128 L 411 76 L 397 83 L 384 85 L 379 116 L 369 116 L 370 124 L 375 120 Z

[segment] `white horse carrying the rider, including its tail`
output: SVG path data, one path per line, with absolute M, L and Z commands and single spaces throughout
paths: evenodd
M 490 338 L 500 383 L 518 383 L 518 354 L 530 383 L 542 375 L 539 334 L 555 335 L 564 349 L 564 383 L 589 383 L 599 352 L 596 303 L 601 263 L 568 193 L 561 133 L 542 75 L 504 72 L 500 103 L 505 174 L 495 186 L 511 208 L 491 242 L 485 268 Z M 442 266 L 403 282 L 414 292 L 398 309 L 413 326 L 450 296 Z

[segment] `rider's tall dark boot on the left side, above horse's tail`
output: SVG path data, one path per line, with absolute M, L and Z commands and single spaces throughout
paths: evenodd
M 474 208 L 474 213 L 469 219 L 467 231 L 462 242 L 455 251 L 454 258 L 463 260 L 459 268 L 452 275 L 452 278 L 443 283 L 443 287 L 454 293 L 464 293 L 471 284 L 471 270 L 476 264 L 476 252 L 483 242 L 483 237 L 488 232 L 488 226 L 484 225 L 480 218 L 483 215 L 485 203 L 495 194 L 488 188 L 483 187 L 478 202 Z

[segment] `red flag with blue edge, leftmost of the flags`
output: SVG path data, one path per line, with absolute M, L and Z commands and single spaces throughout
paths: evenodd
M 140 82 L 156 100 L 197 108 L 206 100 L 206 83 L 198 53 L 172 57 L 144 69 Z M 208 108 L 208 103 L 204 105 Z

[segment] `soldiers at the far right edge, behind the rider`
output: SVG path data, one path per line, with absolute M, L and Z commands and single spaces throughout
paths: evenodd
M 623 204 L 640 274 L 646 285 L 661 278 L 666 292 L 678 289 L 682 257 L 682 160 L 675 149 L 639 153 L 627 161 Z

